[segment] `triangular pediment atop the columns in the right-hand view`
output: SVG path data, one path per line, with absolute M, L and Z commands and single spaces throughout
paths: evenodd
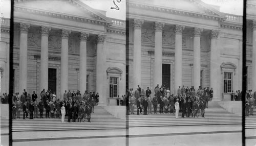
M 139 2 L 136 0 L 130 0 L 129 2 L 184 12 L 223 17 L 219 10 L 215 9 L 211 5 L 203 3 L 200 0 L 147 0 Z

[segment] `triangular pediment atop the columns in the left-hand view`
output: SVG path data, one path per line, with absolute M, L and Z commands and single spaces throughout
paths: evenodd
M 98 12 L 97 10 L 92 9 L 88 5 L 78 0 L 15 1 L 14 7 L 22 7 L 27 9 L 34 9 L 34 10 L 51 12 L 51 13 L 66 14 L 66 15 L 71 15 L 76 17 L 111 22 L 111 20 L 105 15 L 103 15 L 101 12 Z

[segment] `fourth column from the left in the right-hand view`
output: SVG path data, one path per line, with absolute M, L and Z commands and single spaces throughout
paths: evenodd
M 200 47 L 200 35 L 203 29 L 194 28 L 193 31 L 193 48 L 194 48 L 194 60 L 193 60 L 193 86 L 196 88 L 200 86 L 200 74 L 201 74 L 201 47 Z

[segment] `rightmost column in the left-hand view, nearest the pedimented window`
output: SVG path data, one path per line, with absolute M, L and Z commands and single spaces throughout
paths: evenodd
M 96 59 L 96 92 L 99 92 L 99 104 L 106 105 L 106 93 L 105 93 L 105 51 L 104 51 L 104 41 L 105 36 L 98 35 L 97 36 L 97 59 Z

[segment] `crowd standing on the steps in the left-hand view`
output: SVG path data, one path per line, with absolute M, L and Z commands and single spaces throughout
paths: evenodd
M 38 96 L 33 91 L 30 95 L 26 89 L 22 95 L 15 93 L 12 96 L 12 118 L 20 118 L 20 110 L 23 111 L 23 119 L 28 118 L 44 118 L 43 113 L 45 110 L 46 118 L 60 118 L 61 122 L 65 122 L 65 116 L 68 116 L 68 122 L 85 121 L 86 117 L 88 122 L 91 122 L 91 113 L 94 112 L 94 106 L 98 105 L 99 94 L 95 92 L 88 93 L 87 91 L 81 95 L 80 91 L 67 92 L 63 94 L 63 100 L 57 99 L 55 92 L 51 90 L 45 91 L 43 89 L 40 93 L 40 102 Z M 39 110 L 39 116 L 38 116 Z

